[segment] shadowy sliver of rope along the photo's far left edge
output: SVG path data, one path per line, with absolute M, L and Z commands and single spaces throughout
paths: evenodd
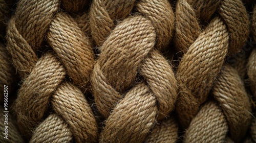
M 13 66 L 10 63 L 10 55 L 8 54 L 8 51 L 6 50 L 6 45 L 4 44 L 4 42 L 2 40 L 2 37 L 4 37 L 4 35 L 2 35 L 3 31 L 5 31 L 6 29 L 6 20 L 7 18 L 9 18 L 9 14 L 10 14 L 10 10 L 7 7 L 7 4 L 5 1 L 0 1 L 0 30 L 1 30 L 1 40 L 0 40 L 0 92 L 1 92 L 1 96 L 0 96 L 0 102 L 1 105 L 4 105 L 4 85 L 8 86 L 8 107 L 10 107 L 10 103 L 11 100 L 13 98 L 13 83 L 15 82 L 15 76 L 14 76 L 14 70 L 13 70 Z M 10 111 L 10 108 L 8 108 Z M 0 107 L 0 111 L 1 113 L 4 113 L 4 106 Z M 1 130 L 5 130 L 5 116 L 2 115 L 0 117 L 0 121 L 2 124 L 0 124 L 0 128 Z M 22 136 L 20 135 L 20 132 L 18 131 L 17 127 L 16 127 L 16 122 L 15 122 L 15 118 L 14 116 L 10 113 L 8 113 L 8 141 L 9 142 L 24 142 Z M 2 136 L 0 138 L 0 142 L 5 142 L 6 139 L 4 138 L 3 132 L 2 132 Z

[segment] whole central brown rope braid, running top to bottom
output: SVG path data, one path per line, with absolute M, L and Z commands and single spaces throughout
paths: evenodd
M 114 6 L 109 7 L 110 4 Z M 172 38 L 158 34 L 155 27 L 158 32 L 161 28 L 173 31 L 170 27 L 173 24 L 168 23 L 174 22 L 174 14 L 167 1 L 159 4 L 153 1 L 139 1 L 136 5 L 131 1 L 126 4 L 120 1 L 92 3 L 92 37 L 101 53 L 94 65 L 91 82 L 96 106 L 106 117 L 100 142 L 141 142 L 155 124 L 156 117 L 161 120 L 174 109 L 176 79 L 172 67 L 154 49 L 155 41 L 159 41 L 158 46 L 165 45 L 170 39 L 165 39 L 164 43 L 161 39 Z M 134 6 L 143 16 L 151 18 L 147 20 L 136 13 L 115 25 L 116 19 L 126 17 Z M 167 11 L 171 18 L 162 19 L 171 21 L 151 21 L 159 19 L 157 14 L 148 13 L 151 7 Z M 138 74 L 145 82 L 134 85 Z

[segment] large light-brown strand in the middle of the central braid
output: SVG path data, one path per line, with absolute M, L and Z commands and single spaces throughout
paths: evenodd
M 130 17 L 102 45 L 91 82 L 95 102 L 105 117 L 134 82 L 139 65 L 153 49 L 155 37 L 150 21 L 141 16 Z M 130 41 L 124 44 L 124 40 Z

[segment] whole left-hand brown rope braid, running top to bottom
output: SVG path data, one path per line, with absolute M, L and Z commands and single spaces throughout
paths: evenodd
M 19 1 L 9 22 L 7 48 L 23 80 L 14 110 L 23 135 L 30 139 L 34 132 L 31 142 L 40 140 L 42 131 L 47 131 L 49 138 L 41 141 L 70 142 L 74 137 L 77 142 L 95 142 L 97 124 L 79 89 L 85 91 L 89 86 L 94 55 L 77 23 L 68 14 L 57 13 L 59 4 L 47 0 Z M 41 57 L 36 55 L 45 35 L 60 60 L 51 51 Z M 52 41 L 56 37 L 60 41 Z M 63 45 L 64 41 L 69 42 Z M 79 88 L 65 80 L 67 74 Z M 50 115 L 49 105 L 53 109 Z

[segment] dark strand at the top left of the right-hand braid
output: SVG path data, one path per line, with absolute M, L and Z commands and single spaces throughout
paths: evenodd
M 177 1 L 174 43 L 178 51 L 182 53 L 187 52 L 188 47 L 195 42 L 202 31 L 198 19 L 201 22 L 204 22 L 204 20 L 208 22 L 219 5 L 220 1 L 218 0 L 206 2 L 190 0 Z

